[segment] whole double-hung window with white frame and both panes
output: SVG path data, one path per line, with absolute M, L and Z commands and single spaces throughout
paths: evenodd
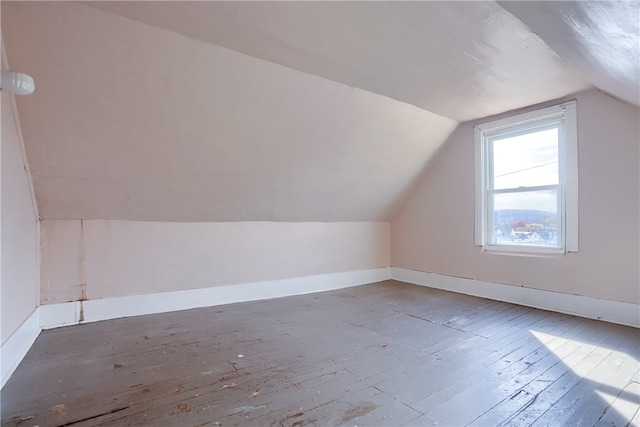
M 578 250 L 576 102 L 476 125 L 476 245 Z

